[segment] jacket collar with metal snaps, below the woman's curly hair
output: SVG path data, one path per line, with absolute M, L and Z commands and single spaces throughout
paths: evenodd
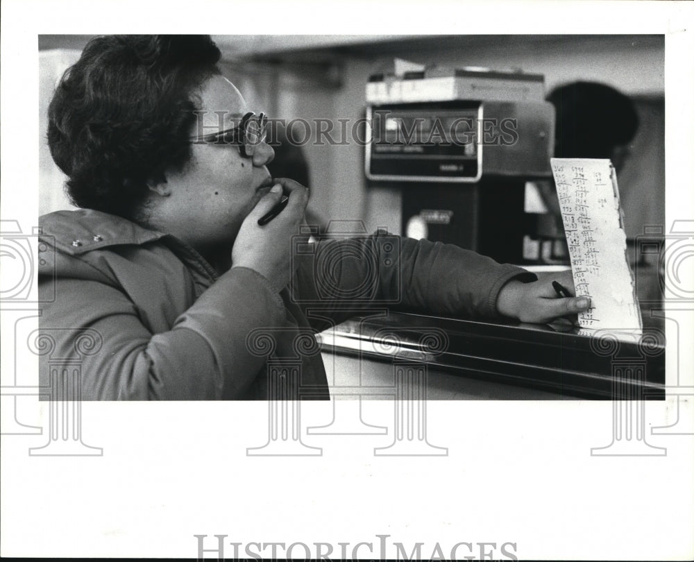
M 139 246 L 166 236 L 120 216 L 91 209 L 44 214 L 39 217 L 39 226 L 40 238 L 70 255 L 121 244 Z

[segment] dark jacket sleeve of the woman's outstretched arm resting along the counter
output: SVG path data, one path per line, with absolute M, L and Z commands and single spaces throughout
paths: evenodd
M 296 300 L 305 308 L 332 308 L 335 318 L 342 317 L 345 305 L 499 318 L 496 300 L 503 285 L 536 279 L 520 267 L 452 244 L 382 233 L 321 241 L 298 261 Z

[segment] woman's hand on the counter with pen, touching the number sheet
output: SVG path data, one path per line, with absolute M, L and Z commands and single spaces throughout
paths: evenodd
M 575 323 L 576 314 L 591 307 L 590 299 L 575 296 L 561 298 L 552 287 L 552 281 L 559 282 L 570 295 L 575 295 L 571 271 L 537 273 L 537 280 L 530 283 L 517 280 L 507 282 L 496 300 L 497 311 L 521 322 L 543 324 L 570 317 Z

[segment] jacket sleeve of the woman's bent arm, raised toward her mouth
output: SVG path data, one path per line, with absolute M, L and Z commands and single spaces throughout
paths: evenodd
M 235 398 L 265 362 L 248 350 L 246 337 L 285 322 L 284 305 L 269 282 L 241 267 L 222 275 L 170 330 L 156 334 L 116 287 L 59 279 L 56 301 L 44 306 L 40 318 L 42 334 L 55 346 L 42 357 L 40 379 L 42 386 L 50 384 L 51 358 L 71 357 L 80 364 L 83 400 Z M 87 332 L 99 343 L 78 352 L 75 341 Z

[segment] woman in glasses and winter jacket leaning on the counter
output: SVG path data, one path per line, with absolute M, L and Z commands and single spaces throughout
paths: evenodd
M 40 290 L 56 289 L 41 329 L 58 357 L 85 330 L 99 339 L 80 356 L 83 399 L 267 398 L 266 357 L 249 338 L 272 332 L 273 355 L 290 357 L 294 334 L 344 319 L 343 289 L 365 279 L 375 305 L 437 314 L 545 322 L 588 307 L 555 298 L 549 280 L 428 241 L 402 239 L 394 254 L 393 237 L 376 235 L 357 242 L 364 259 L 339 241 L 293 255 L 307 189 L 271 178 L 264 121 L 219 57 L 208 36 L 98 37 L 56 89 L 49 146 L 82 209 L 41 217 L 53 255 Z M 286 208 L 259 224 L 283 194 Z M 326 255 L 327 294 L 314 271 Z M 559 280 L 573 289 L 570 273 Z M 305 314 L 316 302 L 323 321 Z M 320 355 L 301 357 L 301 388 L 328 398 Z

